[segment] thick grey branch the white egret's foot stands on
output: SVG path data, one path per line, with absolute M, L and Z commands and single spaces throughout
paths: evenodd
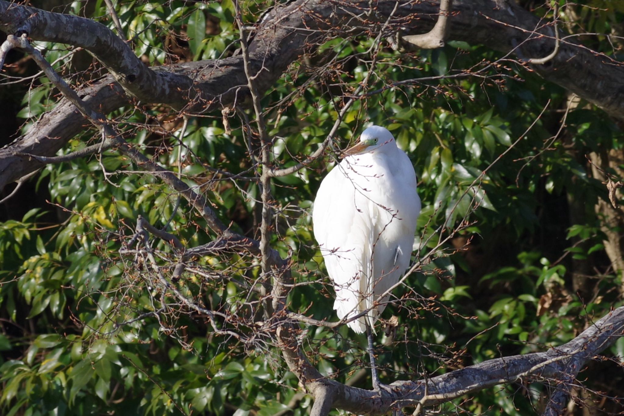
M 462 395 L 517 380 L 560 380 L 576 374 L 585 363 L 624 336 L 624 307 L 619 307 L 588 327 L 578 337 L 546 352 L 502 357 L 471 365 L 426 380 L 396 381 L 391 384 L 394 398 L 379 397 L 374 391 L 357 389 L 319 380 L 316 384 L 333 386 L 333 406 L 356 414 L 386 414 L 402 407 L 432 406 Z

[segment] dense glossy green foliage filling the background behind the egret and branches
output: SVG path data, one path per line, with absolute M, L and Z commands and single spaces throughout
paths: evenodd
M 552 19 L 549 7 L 526 3 Z M 137 56 L 150 65 L 237 53 L 230 0 L 120 0 L 115 7 Z M 243 5 L 243 20 L 257 21 L 266 7 Z M 598 33 L 588 36 L 587 45 L 622 58 L 621 39 L 612 39 L 613 44 L 602 35 L 620 30 L 620 2 L 562 0 L 560 10 L 567 31 Z M 101 0 L 54 11 L 114 29 Z M 62 44 L 36 45 L 73 85 L 104 73 L 84 52 Z M 26 132 L 54 107 L 58 95 L 40 75 L 13 83 L 14 77 L 37 72 L 20 53 L 9 56 L 14 65 L 0 75 L 0 94 L 3 109 L 12 111 Z M 467 75 L 466 69 L 477 75 Z M 447 77 L 389 87 L 437 75 Z M 431 261 L 418 264 L 384 312 L 386 320 L 396 316 L 398 324 L 388 324 L 385 334 L 384 327 L 378 329 L 383 380 L 415 379 L 543 351 L 622 304 L 622 271 L 605 254 L 608 221 L 595 208 L 608 201 L 607 187 L 590 162 L 592 153 L 622 152 L 624 135 L 613 119 L 546 84 L 526 65 L 478 45 L 452 41 L 421 51 L 402 44 L 392 48 L 374 37 L 333 39 L 293 64 L 262 99 L 275 165 L 288 167 L 313 153 L 365 79 L 371 94 L 355 100 L 325 157 L 276 178 L 271 188 L 276 201 L 271 246 L 290 258 L 297 283 L 288 299 L 292 311 L 336 319 L 310 208 L 339 148 L 368 123 L 391 130 L 411 158 L 423 201 L 414 261 L 433 250 Z M 244 111 L 253 119 L 253 112 Z M 110 117 L 127 140 L 197 186 L 232 230 L 258 236 L 260 191 L 250 157 L 258 152 L 258 140 L 244 117 L 230 114 L 224 125 L 222 114 L 187 117 L 140 103 Z M 85 128 L 61 152 L 97 140 L 95 130 Z M 617 180 L 617 170 L 607 172 Z M 240 342 L 213 334 L 206 316 L 161 301 L 158 289 L 142 277 L 149 264 L 120 254 L 130 249 L 139 215 L 157 228 L 168 225 L 188 247 L 213 238 L 205 221 L 158 177 L 109 150 L 101 160 L 94 155 L 47 165 L 4 206 L 2 414 L 308 413 L 311 398 L 298 392 L 279 349 L 263 339 Z M 158 239 L 152 244 L 160 264 L 175 263 L 169 244 Z M 240 253 L 207 255 L 197 261 L 198 269 L 213 274 L 188 271 L 177 286 L 213 311 L 239 316 L 240 331 L 251 334 L 262 321 L 261 311 L 235 281 L 253 284 L 258 264 Z M 369 388 L 369 373 L 359 370 L 367 362 L 364 336 L 346 326 L 301 327 L 308 356 L 323 374 Z M 587 378 L 587 389 L 578 388 L 578 400 L 590 409 L 622 411 L 617 400 L 605 397 L 622 397 L 616 386 L 624 383 L 617 365 L 624 362 L 624 338 L 607 352 L 613 355 L 619 358 L 592 362 L 580 377 Z M 540 409 L 547 390 L 537 383 L 496 387 L 441 410 L 527 415 Z

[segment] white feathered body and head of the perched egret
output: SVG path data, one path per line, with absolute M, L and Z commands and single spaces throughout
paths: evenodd
M 375 141 L 376 139 L 376 141 Z M 313 208 L 314 236 L 334 282 L 338 317 L 366 316 L 349 326 L 371 327 L 386 307 L 412 252 L 421 200 L 414 167 L 386 128 L 360 137 L 361 153 L 345 157 L 321 182 Z

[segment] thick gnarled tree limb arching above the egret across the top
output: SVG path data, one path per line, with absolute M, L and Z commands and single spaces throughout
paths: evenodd
M 391 21 L 393 30 L 402 30 L 401 27 L 406 35 L 416 34 L 429 31 L 436 23 L 439 7 L 436 2 L 401 0 L 398 4 Z M 269 89 L 301 54 L 313 51 L 324 39 L 344 34 L 340 28 L 350 28 L 349 36 L 379 31 L 395 6 L 394 0 L 375 2 L 372 11 L 368 1 L 297 0 L 276 6 L 256 27 L 255 37 L 249 44 L 249 65 L 259 94 Z M 318 31 L 310 27 L 318 27 Z M 450 27 L 449 39 L 469 39 L 471 43 L 484 44 L 497 51 L 514 52 L 520 59 L 547 56 L 552 52 L 552 29 L 512 2 L 497 7 L 493 0 L 456 0 Z M 62 30 L 57 30 L 59 28 Z M 123 41 L 97 22 L 4 0 L 0 0 L 0 29 L 9 33 L 28 29 L 33 39 L 90 48 L 120 82 L 110 84 L 112 79 L 102 80 L 81 92 L 82 96 L 94 95 L 90 97 L 92 106 L 100 107 L 103 113 L 125 102 L 119 95 L 122 91 L 119 85 L 142 102 L 185 106 L 187 112 L 235 107 L 248 97 L 248 80 L 241 56 L 149 69 Z M 83 39 L 87 32 L 93 36 Z M 557 54 L 545 64 L 535 65 L 535 71 L 624 119 L 624 93 L 620 94 L 624 90 L 624 67 L 573 42 L 560 40 L 558 44 Z M 105 82 L 111 87 L 105 87 Z M 21 158 L 12 156 L 13 153 L 52 156 L 82 130 L 84 121 L 72 115 L 73 111 L 72 105 L 61 102 L 11 150 L 0 149 L 0 188 L 41 167 L 41 163 L 34 160 L 24 163 Z M 9 164 L 11 170 L 7 170 Z

